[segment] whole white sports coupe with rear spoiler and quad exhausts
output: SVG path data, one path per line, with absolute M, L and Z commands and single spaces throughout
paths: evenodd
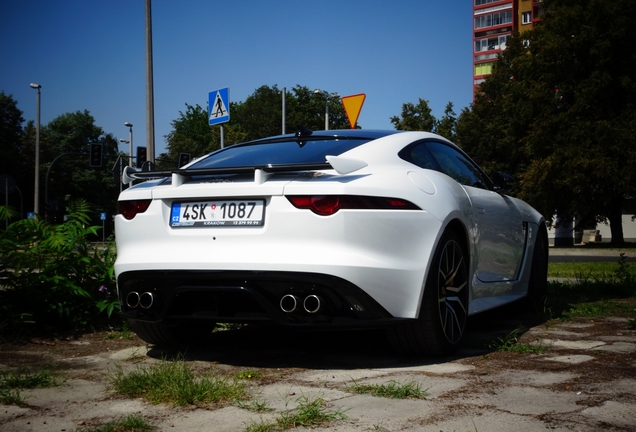
M 338 130 L 215 151 L 119 197 L 121 308 L 152 344 L 218 322 L 385 327 L 447 354 L 469 315 L 545 295 L 541 214 L 427 132 Z

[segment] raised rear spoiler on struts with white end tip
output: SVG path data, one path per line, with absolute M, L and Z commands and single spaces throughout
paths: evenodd
M 289 171 L 315 171 L 334 169 L 340 175 L 349 174 L 367 166 L 358 159 L 347 159 L 339 156 L 327 156 L 327 162 L 311 164 L 281 164 L 253 167 L 232 168 L 181 168 L 167 171 L 143 171 L 141 168 L 127 166 L 124 168 L 122 183 L 132 183 L 134 180 L 150 180 L 172 177 L 173 186 L 181 186 L 194 176 L 221 174 L 249 174 L 254 173 L 254 183 L 263 184 L 270 174 Z

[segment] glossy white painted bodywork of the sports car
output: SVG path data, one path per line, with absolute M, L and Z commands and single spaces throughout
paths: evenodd
M 434 134 L 399 132 L 327 155 L 339 160 L 339 171 L 255 167 L 253 174 L 173 174 L 137 184 L 120 201 L 152 202 L 132 220 L 115 217 L 118 281 L 139 271 L 326 275 L 357 287 L 391 317 L 414 319 L 432 255 L 452 225 L 461 227 L 470 256 L 469 313 L 523 297 L 541 215 L 520 200 L 461 185 L 398 156 L 410 143 L 428 139 L 454 147 Z M 292 205 L 287 197 L 295 195 L 391 197 L 419 210 L 341 209 L 319 216 Z M 175 201 L 248 198 L 265 200 L 263 226 L 169 225 Z

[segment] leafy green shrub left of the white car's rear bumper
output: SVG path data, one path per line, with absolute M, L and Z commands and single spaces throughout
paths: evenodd
M 77 201 L 68 220 L 52 225 L 23 219 L 0 232 L 0 326 L 15 330 L 29 322 L 86 328 L 117 310 L 112 245 L 93 246 L 89 206 Z M 100 312 L 102 315 L 100 315 Z

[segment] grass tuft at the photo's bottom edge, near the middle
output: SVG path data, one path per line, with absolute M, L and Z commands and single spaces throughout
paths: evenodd
M 244 432 L 280 432 L 301 426 L 325 426 L 334 420 L 347 418 L 340 410 L 329 411 L 326 401 L 322 398 L 310 399 L 301 396 L 296 402 L 296 409 L 285 410 L 272 422 L 251 423 Z

